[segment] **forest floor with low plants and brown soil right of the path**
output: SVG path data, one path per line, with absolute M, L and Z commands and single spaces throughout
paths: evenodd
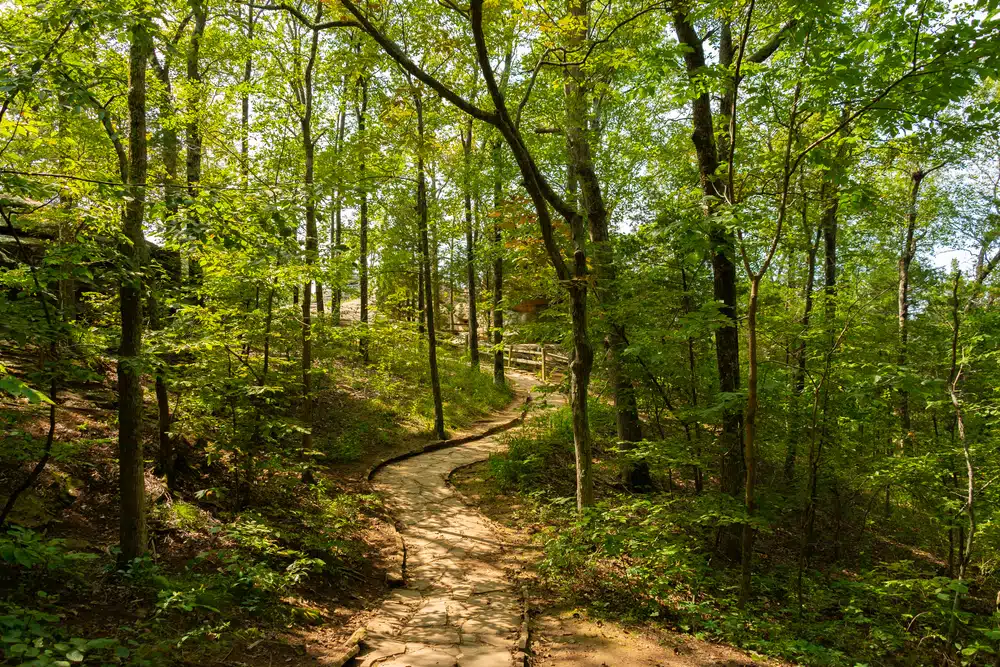
M 583 517 L 572 511 L 567 410 L 505 434 L 507 452 L 451 478 L 469 502 L 525 535 L 534 545 L 528 549 L 541 550 L 532 560 L 542 628 L 568 610 L 573 618 L 557 624 L 559 630 L 573 628 L 581 614 L 591 625 L 620 625 L 693 659 L 678 658 L 678 665 L 705 664 L 699 657 L 711 655 L 718 642 L 751 652 L 719 658 L 719 664 L 768 657 L 819 665 L 948 662 L 935 620 L 947 617 L 953 600 L 948 544 L 927 530 L 928 517 L 919 510 L 887 506 L 881 490 L 840 498 L 839 506 L 824 509 L 812 559 L 802 564 L 799 518 L 781 512 L 797 490 L 776 484 L 761 500 L 769 524 L 757 547 L 759 593 L 741 610 L 734 581 L 739 563 L 718 549 L 717 513 L 725 511 L 725 497 L 696 490 L 691 468 L 667 461 L 651 466 L 653 484 L 644 493 L 624 489 L 630 458 L 617 445 L 613 410 L 598 402 L 592 410 L 595 511 Z M 683 437 L 680 424 L 668 428 Z M 780 466 L 762 462 L 763 478 L 780 479 Z M 982 573 L 967 586 L 965 622 L 988 629 L 1000 580 Z M 578 641 L 585 643 L 586 635 Z M 647 660 L 635 664 L 656 664 L 655 651 Z M 546 662 L 543 654 L 536 664 L 572 663 Z

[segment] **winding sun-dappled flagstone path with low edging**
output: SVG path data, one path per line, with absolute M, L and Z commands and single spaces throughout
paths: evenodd
M 520 374 L 512 379 L 514 407 L 478 424 L 476 432 L 495 433 L 522 413 L 536 381 Z M 406 586 L 395 589 L 368 623 L 358 664 L 513 664 L 522 622 L 521 591 L 498 566 L 504 545 L 496 529 L 448 484 L 453 470 L 500 448 L 496 435 L 484 435 L 391 463 L 376 473 L 376 488 L 388 499 L 401 527 Z

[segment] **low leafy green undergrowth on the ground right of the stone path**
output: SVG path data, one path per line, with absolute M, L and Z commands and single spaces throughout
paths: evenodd
M 908 530 L 904 519 L 895 525 L 872 517 L 875 530 L 845 544 L 839 561 L 810 563 L 800 584 L 798 552 L 783 546 L 785 535 L 797 530 L 797 517 L 763 507 L 756 524 L 760 540 L 781 548 L 767 549 L 777 554 L 772 558 L 758 555 L 754 596 L 740 609 L 738 565 L 714 548 L 721 527 L 743 520 L 738 503 L 709 488 L 698 494 L 668 484 L 667 474 L 674 473 L 655 465 L 661 488 L 673 492 L 625 491 L 618 479 L 628 453 L 615 448 L 609 409 L 591 409 L 599 498 L 584 514 L 577 515 L 572 498 L 568 409 L 510 433 L 507 451 L 486 468 L 493 493 L 518 496 L 516 503 L 488 506 L 516 506 L 517 517 L 508 521 L 542 526 L 536 534 L 544 544 L 539 569 L 562 595 L 610 618 L 664 624 L 801 664 L 930 664 L 946 662 L 949 654 L 963 664 L 994 664 L 1000 656 L 1000 614 L 987 599 L 996 589 L 990 571 L 961 582 L 942 576 L 926 558 L 872 556 L 881 540 Z M 646 443 L 645 449 L 657 447 Z M 970 595 L 969 611 L 953 613 L 956 590 Z M 956 640 L 949 646 L 952 623 Z

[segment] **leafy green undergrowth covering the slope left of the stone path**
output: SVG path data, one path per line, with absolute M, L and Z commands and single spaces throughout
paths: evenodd
M 265 640 L 278 652 L 262 664 L 300 661 L 292 630 L 343 623 L 378 598 L 371 528 L 386 510 L 356 478 L 366 462 L 430 433 L 426 345 L 412 326 L 375 322 L 365 365 L 357 329 L 317 322 L 317 421 L 313 449 L 302 450 L 300 370 L 288 354 L 298 335 L 273 331 L 266 376 L 211 336 L 185 338 L 181 371 L 169 378 L 177 479 L 169 492 L 150 487 L 152 548 L 128 563 L 118 562 L 116 508 L 106 504 L 114 412 L 60 412 L 45 474 L 0 533 L 0 663 L 208 664 Z M 439 366 L 450 430 L 511 400 L 460 353 L 442 347 Z M 94 372 L 72 391 L 100 400 L 101 378 Z M 0 413 L 0 473 L 10 479 L 40 455 L 37 414 Z M 145 429 L 155 433 L 151 421 Z

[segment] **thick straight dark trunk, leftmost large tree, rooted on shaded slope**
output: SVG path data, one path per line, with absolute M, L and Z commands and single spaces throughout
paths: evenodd
M 132 25 L 129 45 L 129 199 L 123 215 L 128 242 L 121 253 L 126 271 L 119 286 L 121 344 L 118 349 L 118 464 L 122 563 L 146 551 L 146 486 L 142 454 L 142 232 L 146 200 L 146 61 L 149 35 L 142 17 Z

